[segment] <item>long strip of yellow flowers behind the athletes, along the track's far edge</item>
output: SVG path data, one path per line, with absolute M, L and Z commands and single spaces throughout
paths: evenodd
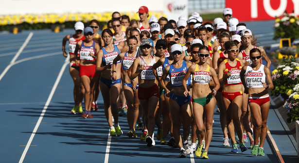
M 139 20 L 139 15 L 136 12 L 123 12 L 121 15 L 127 15 L 131 19 Z M 158 18 L 164 16 L 162 12 L 149 12 L 150 16 Z M 112 12 L 107 13 L 66 13 L 66 14 L 27 14 L 27 15 L 8 15 L 0 16 L 0 25 L 17 25 L 24 22 L 29 24 L 36 23 L 60 23 L 63 24 L 68 21 L 82 21 L 89 22 L 96 19 L 99 22 L 108 22 L 112 18 Z

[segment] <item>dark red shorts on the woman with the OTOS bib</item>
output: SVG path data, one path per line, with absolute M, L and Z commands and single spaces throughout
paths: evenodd
M 149 99 L 152 96 L 156 96 L 160 98 L 158 85 L 153 85 L 148 88 L 143 88 L 141 86 L 138 87 L 138 98 L 139 99 Z

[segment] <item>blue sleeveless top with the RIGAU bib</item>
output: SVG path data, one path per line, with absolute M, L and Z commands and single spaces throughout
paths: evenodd
M 187 72 L 188 68 L 186 65 L 186 61 L 183 61 L 183 64 L 180 68 L 175 68 L 173 64 L 169 67 L 169 76 L 172 87 L 183 86 L 182 81 Z M 189 85 L 191 83 L 190 78 L 188 78 L 186 84 Z

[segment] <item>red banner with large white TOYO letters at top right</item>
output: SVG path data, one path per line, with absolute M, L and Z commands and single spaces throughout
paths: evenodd
M 226 7 L 239 21 L 272 20 L 285 11 L 299 15 L 299 0 L 226 0 Z

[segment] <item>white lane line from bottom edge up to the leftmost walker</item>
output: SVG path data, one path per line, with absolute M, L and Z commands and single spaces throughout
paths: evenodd
M 22 156 L 21 156 L 21 158 L 19 160 L 19 163 L 23 163 L 23 161 L 24 161 L 24 158 L 25 158 L 25 156 L 27 154 L 27 151 L 28 151 L 28 149 L 29 149 L 29 147 L 30 147 L 30 145 L 32 143 L 32 140 L 33 140 L 33 138 L 35 136 L 35 133 L 36 133 L 36 131 L 37 131 L 37 129 L 38 129 L 38 127 L 39 127 L 39 125 L 40 125 L 40 123 L 41 123 L 41 121 L 42 121 L 42 119 L 43 119 L 43 117 L 44 117 L 44 115 L 45 115 L 45 113 L 47 111 L 47 108 L 48 108 L 48 106 L 49 106 L 49 104 L 51 102 L 51 99 L 53 98 L 54 92 L 55 92 L 55 90 L 57 88 L 57 85 L 58 85 L 58 83 L 59 83 L 59 81 L 60 81 L 63 73 L 64 73 L 64 70 L 66 69 L 67 65 L 69 65 L 69 59 L 70 58 L 68 56 L 66 58 L 66 60 L 64 61 L 64 64 L 62 65 L 61 69 L 60 69 L 60 72 L 59 72 L 59 74 L 57 76 L 57 79 L 56 79 L 54 85 L 53 85 L 53 88 L 52 88 L 51 93 L 50 93 L 50 95 L 48 97 L 48 100 L 47 100 L 47 102 L 46 102 L 46 104 L 44 106 L 44 109 L 43 109 L 42 113 L 40 114 L 40 116 L 39 116 L 39 118 L 38 118 L 38 120 L 36 122 L 35 128 L 34 128 L 32 134 L 31 134 L 31 136 L 30 136 L 30 138 L 29 138 L 29 140 L 27 142 L 27 145 L 26 145 L 26 147 L 25 147 L 25 149 L 23 151 L 23 154 L 22 154 Z

